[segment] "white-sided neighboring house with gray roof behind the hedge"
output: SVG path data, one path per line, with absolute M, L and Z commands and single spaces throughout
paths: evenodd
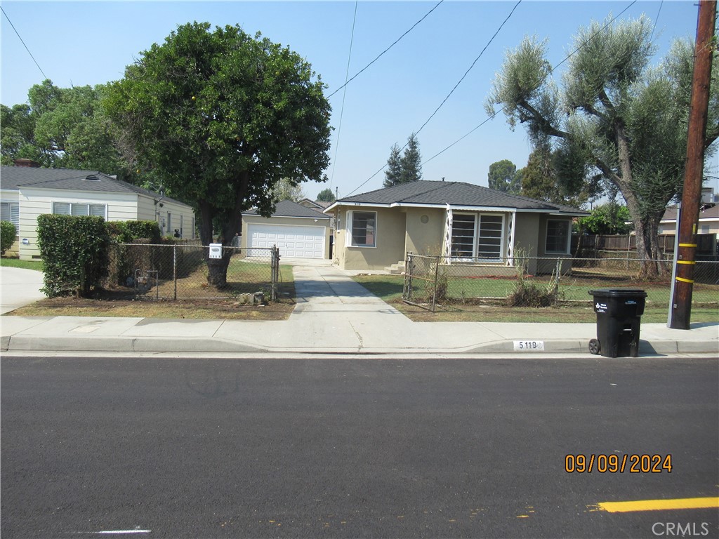
M 40 258 L 37 217 L 43 213 L 157 221 L 163 236 L 195 237 L 191 206 L 97 171 L 0 167 L 0 210 L 17 229 L 11 253 L 21 259 Z

